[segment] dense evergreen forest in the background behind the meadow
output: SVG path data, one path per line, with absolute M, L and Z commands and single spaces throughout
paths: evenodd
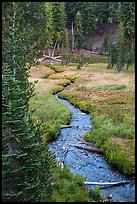
M 31 26 L 33 48 L 46 53 L 54 46 L 61 52 L 60 47 L 66 47 L 69 43 L 72 45 L 72 27 L 74 48 L 79 49 L 92 50 L 94 33 L 101 35 L 109 27 L 110 34 L 113 35 L 111 29 L 120 23 L 123 24 L 122 32 L 128 46 L 134 39 L 135 2 L 20 2 L 18 5 L 23 11 L 20 16 L 25 27 Z M 10 7 L 11 2 L 3 2 L 5 19 Z M 3 25 L 4 23 L 7 21 L 3 21 Z M 72 46 L 70 47 L 73 49 Z

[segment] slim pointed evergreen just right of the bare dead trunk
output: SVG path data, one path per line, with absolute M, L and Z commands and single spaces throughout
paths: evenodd
M 78 49 L 81 48 L 83 42 L 83 29 L 82 29 L 82 18 L 78 11 L 76 14 L 76 31 L 75 31 L 76 41 Z

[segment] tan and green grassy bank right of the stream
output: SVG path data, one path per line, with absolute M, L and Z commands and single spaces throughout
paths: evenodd
M 84 77 L 82 77 L 84 76 Z M 91 114 L 92 131 L 84 139 L 101 147 L 108 162 L 125 175 L 135 174 L 134 73 L 107 70 L 94 64 L 81 70 L 81 77 L 60 93 Z

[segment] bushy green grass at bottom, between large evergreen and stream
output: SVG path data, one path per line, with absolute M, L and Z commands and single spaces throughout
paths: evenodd
M 93 202 L 101 201 L 100 190 L 95 188 L 88 191 L 84 185 L 84 178 L 74 175 L 69 168 L 56 167 L 53 176 L 53 193 L 46 202 Z

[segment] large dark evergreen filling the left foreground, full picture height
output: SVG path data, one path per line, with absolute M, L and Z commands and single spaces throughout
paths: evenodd
M 33 34 L 23 6 L 10 2 L 3 13 L 2 199 L 12 202 L 40 201 L 51 183 L 51 155 L 29 110 L 34 87 L 26 63 L 31 63 Z

